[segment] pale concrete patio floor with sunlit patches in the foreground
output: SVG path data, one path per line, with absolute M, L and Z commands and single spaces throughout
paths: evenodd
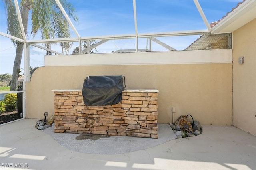
M 233 126 L 204 125 L 199 136 L 106 155 L 68 150 L 34 128 L 36 121 L 23 119 L 0 127 L 0 169 L 256 170 L 256 136 Z

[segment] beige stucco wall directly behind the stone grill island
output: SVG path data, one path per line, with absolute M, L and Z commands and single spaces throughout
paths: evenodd
M 175 119 L 191 114 L 204 125 L 232 125 L 232 63 L 40 67 L 26 83 L 26 117 L 54 113 L 52 89 L 82 89 L 88 75 L 120 74 L 126 88 L 159 90 L 158 123 L 172 122 L 176 107 Z

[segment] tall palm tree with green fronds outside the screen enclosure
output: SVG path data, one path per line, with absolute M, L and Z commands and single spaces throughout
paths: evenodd
M 60 3 L 66 10 L 69 17 L 74 22 L 77 22 L 78 18 L 74 14 L 75 9 L 72 7 L 72 5 L 69 2 L 66 2 L 66 0 L 61 0 Z M 7 33 L 23 39 L 14 1 L 5 0 L 4 4 L 7 15 Z M 34 38 L 38 31 L 41 32 L 42 39 L 71 37 L 71 30 L 68 25 L 68 21 L 54 0 L 21 0 L 20 14 L 27 37 L 28 15 L 30 14 L 30 10 L 32 20 L 32 38 Z M 16 40 L 12 40 L 12 42 L 16 47 L 16 56 L 13 65 L 10 91 L 15 91 L 17 88 L 16 82 L 20 73 L 20 63 L 22 59 L 24 43 L 18 42 Z M 45 46 L 50 49 L 51 44 L 52 43 L 46 43 Z M 64 51 L 67 53 L 72 46 L 72 42 L 60 42 L 60 46 L 62 47 L 62 53 Z M 47 51 L 47 55 L 50 55 L 50 52 Z

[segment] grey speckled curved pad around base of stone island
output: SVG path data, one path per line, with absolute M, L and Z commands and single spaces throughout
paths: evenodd
M 87 135 L 87 139 L 77 140 L 80 134 L 54 133 L 54 127 L 49 127 L 43 132 L 49 134 L 60 145 L 70 150 L 88 154 L 122 154 L 151 148 L 159 144 L 176 139 L 169 124 L 158 123 L 158 139 L 138 138 L 131 136 L 94 136 Z

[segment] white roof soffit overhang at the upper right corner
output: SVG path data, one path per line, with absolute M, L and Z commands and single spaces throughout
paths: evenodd
M 212 27 L 212 33 L 234 32 L 256 18 L 256 0 L 246 0 Z

